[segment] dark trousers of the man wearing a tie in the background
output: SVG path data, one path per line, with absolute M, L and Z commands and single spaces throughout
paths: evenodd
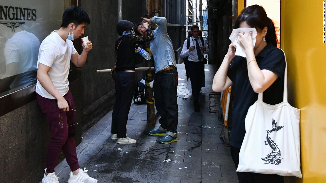
M 187 61 L 187 70 L 191 82 L 192 97 L 194 98 L 194 104 L 199 104 L 199 92 L 202 87 L 204 77 L 204 63 L 202 61 L 193 62 Z

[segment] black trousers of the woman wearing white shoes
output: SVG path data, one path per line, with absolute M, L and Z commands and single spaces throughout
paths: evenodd
M 130 105 L 135 92 L 135 72 L 116 72 L 115 104 L 112 112 L 111 133 L 125 138 Z

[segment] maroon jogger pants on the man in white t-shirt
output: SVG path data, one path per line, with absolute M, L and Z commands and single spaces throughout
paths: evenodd
M 68 93 L 63 97 L 69 101 L 71 109 L 75 109 L 74 100 L 70 91 L 68 91 Z M 54 172 L 54 168 L 57 165 L 60 150 L 63 151 L 67 163 L 70 166 L 70 170 L 77 170 L 78 168 L 80 168 L 80 166 L 78 164 L 74 139 L 74 135 L 76 134 L 76 125 L 72 125 L 75 124 L 75 111 L 69 110 L 68 112 L 61 113 L 61 116 L 63 117 L 63 128 L 61 128 L 59 124 L 59 113 L 62 110 L 58 108 L 56 99 L 44 98 L 39 94 L 37 94 L 36 99 L 42 112 L 47 117 L 48 125 L 51 132 L 51 141 L 48 145 L 46 155 L 46 172 Z

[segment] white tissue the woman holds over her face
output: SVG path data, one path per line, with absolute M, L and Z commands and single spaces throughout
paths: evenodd
M 248 37 L 248 34 L 252 31 L 252 43 L 253 46 L 255 47 L 256 44 L 256 36 L 257 36 L 257 31 L 256 28 L 239 28 L 239 29 L 233 29 L 229 39 L 231 42 L 237 46 L 237 49 L 235 50 L 235 55 L 239 55 L 241 57 L 246 58 L 247 55 L 244 52 L 244 48 L 240 46 L 240 44 L 237 41 L 238 34 L 239 33 L 244 33 L 244 36 Z

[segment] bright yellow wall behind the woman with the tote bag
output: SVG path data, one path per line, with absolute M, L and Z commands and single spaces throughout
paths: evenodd
M 238 0 L 239 14 L 244 0 Z M 281 0 L 281 48 L 288 62 L 289 99 L 301 109 L 303 178 L 286 182 L 326 183 L 326 43 L 323 0 Z

